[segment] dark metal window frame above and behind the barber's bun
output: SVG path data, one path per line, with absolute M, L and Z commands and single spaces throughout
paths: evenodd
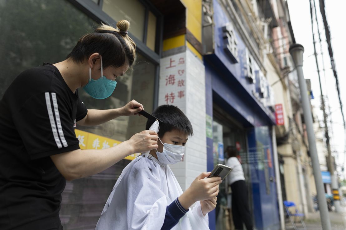
M 108 14 L 102 11 L 103 0 L 99 0 L 98 4 L 95 4 L 92 0 L 68 0 L 76 8 L 85 13 L 88 17 L 94 21 L 100 23 L 105 22 L 109 24 L 116 24 L 116 21 L 112 19 Z M 160 77 L 160 58 L 162 57 L 162 43 L 163 43 L 163 15 L 158 11 L 152 3 L 145 0 L 139 0 L 145 7 L 145 19 L 144 19 L 144 34 L 143 41 L 136 38 L 129 32 L 129 36 L 136 43 L 137 51 L 145 58 L 149 59 L 155 65 L 155 79 L 154 79 L 154 109 L 158 106 L 158 87 Z M 156 36 L 155 36 L 155 51 L 146 46 L 147 27 L 149 10 L 156 16 Z

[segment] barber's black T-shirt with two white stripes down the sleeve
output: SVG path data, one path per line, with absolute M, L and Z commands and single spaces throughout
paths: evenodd
M 79 149 L 87 109 L 51 64 L 19 74 L 0 100 L 0 229 L 60 226 L 66 180 L 50 156 Z

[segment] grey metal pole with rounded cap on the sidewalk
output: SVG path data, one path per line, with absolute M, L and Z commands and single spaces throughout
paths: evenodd
M 317 200 L 320 209 L 321 224 L 323 230 L 331 230 L 329 212 L 327 209 L 327 202 L 324 192 L 324 186 L 322 183 L 322 174 L 320 169 L 320 163 L 318 161 L 315 132 L 312 124 L 312 113 L 310 108 L 310 102 L 308 99 L 308 90 L 306 87 L 306 81 L 303 74 L 303 52 L 304 47 L 301 44 L 294 43 L 290 46 L 290 53 L 295 64 L 295 68 L 298 73 L 299 89 L 302 98 L 302 107 L 304 113 L 304 120 L 306 124 L 306 130 L 308 133 L 310 158 L 312 163 L 313 175 L 315 178 Z

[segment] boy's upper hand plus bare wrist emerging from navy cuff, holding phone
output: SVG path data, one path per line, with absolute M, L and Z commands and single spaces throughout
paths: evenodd
M 222 180 L 220 177 L 206 178 L 210 173 L 202 172 L 179 197 L 179 202 L 185 209 L 190 208 L 196 201 L 208 200 L 217 196 Z

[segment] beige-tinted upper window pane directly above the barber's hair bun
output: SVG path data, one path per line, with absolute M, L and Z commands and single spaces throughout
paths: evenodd
M 115 21 L 130 22 L 131 33 L 143 41 L 145 7 L 138 0 L 103 0 L 102 10 Z

